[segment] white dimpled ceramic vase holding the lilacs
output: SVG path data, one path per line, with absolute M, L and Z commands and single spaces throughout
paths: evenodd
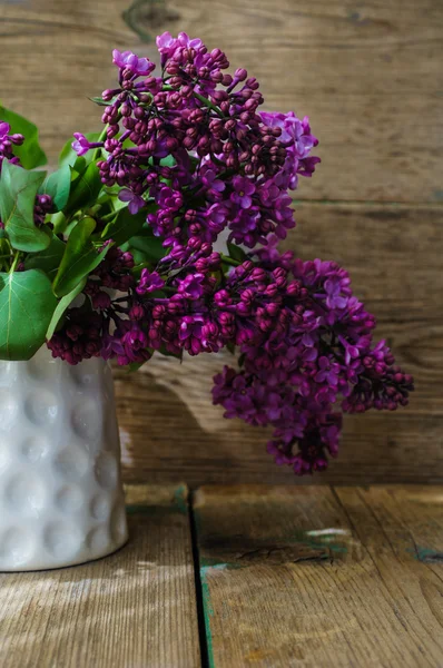
M 0 571 L 81 563 L 127 537 L 110 367 L 46 347 L 0 361 Z

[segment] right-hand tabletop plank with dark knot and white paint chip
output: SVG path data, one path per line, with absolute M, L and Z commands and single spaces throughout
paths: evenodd
M 199 490 L 209 665 L 441 666 L 442 500 L 417 487 Z

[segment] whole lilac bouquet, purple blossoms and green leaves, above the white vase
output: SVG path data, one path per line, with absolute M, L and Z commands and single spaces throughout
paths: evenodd
M 46 341 L 69 364 L 137 369 L 228 348 L 238 365 L 214 403 L 272 425 L 277 464 L 323 470 L 342 413 L 406 405 L 413 379 L 373 343 L 345 269 L 277 249 L 295 226 L 288 191 L 319 163 L 308 119 L 262 111 L 257 80 L 227 73 L 220 49 L 168 32 L 157 46 L 159 71 L 114 51 L 102 132 L 76 132 L 50 176 L 33 170 L 35 126 L 2 110 L 0 356 Z

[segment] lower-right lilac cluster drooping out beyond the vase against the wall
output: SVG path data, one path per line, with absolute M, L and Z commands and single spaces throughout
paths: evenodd
M 260 268 L 242 278 L 249 312 L 256 305 L 254 334 L 240 344 L 242 370 L 225 367 L 216 376 L 214 401 L 227 418 L 273 425 L 268 452 L 276 463 L 309 473 L 337 453 L 337 406 L 395 410 L 407 404 L 413 379 L 394 365 L 385 342 L 374 346 L 375 320 L 353 296 L 344 269 L 275 252 L 266 257 L 266 249 L 260 255 Z M 243 276 L 244 265 L 239 269 Z

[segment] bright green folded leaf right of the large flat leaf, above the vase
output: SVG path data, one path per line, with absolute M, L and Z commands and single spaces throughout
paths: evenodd
M 110 245 L 98 252 L 90 236 L 95 230 L 93 218 L 82 218 L 73 227 L 66 245 L 65 255 L 53 281 L 53 292 L 62 297 L 72 292 L 90 274 L 108 253 Z

